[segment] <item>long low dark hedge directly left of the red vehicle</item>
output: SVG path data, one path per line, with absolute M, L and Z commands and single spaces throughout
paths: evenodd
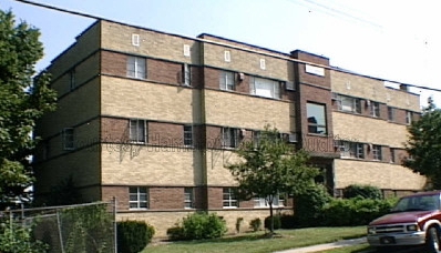
M 387 214 L 393 204 L 394 200 L 336 199 L 324 208 L 325 224 L 367 225 L 373 219 Z

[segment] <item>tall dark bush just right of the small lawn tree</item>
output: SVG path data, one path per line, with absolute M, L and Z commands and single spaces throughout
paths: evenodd
M 296 226 L 322 225 L 322 209 L 331 200 L 331 195 L 321 184 L 312 185 L 304 193 L 297 194 L 294 203 Z

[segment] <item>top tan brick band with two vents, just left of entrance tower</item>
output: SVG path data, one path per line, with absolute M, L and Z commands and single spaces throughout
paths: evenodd
M 225 51 L 230 53 L 229 62 L 225 61 Z M 265 59 L 265 70 L 260 69 L 260 59 Z M 278 80 L 294 80 L 294 64 L 288 60 L 211 43 L 204 43 L 204 64 Z

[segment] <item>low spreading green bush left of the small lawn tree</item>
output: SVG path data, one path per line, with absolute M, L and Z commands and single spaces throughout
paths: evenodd
M 216 214 L 194 213 L 168 229 L 167 235 L 170 240 L 201 240 L 222 237 L 226 232 L 225 221 Z

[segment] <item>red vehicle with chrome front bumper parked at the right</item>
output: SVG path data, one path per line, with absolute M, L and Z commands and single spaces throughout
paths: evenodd
M 379 250 L 425 244 L 428 252 L 440 253 L 440 196 L 434 191 L 401 198 L 389 214 L 369 223 L 369 244 Z

